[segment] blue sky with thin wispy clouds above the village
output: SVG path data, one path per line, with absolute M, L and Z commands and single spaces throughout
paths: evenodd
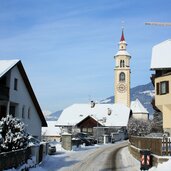
M 150 82 L 152 47 L 171 38 L 170 0 L 0 0 L 0 59 L 21 59 L 43 110 L 114 93 L 122 21 L 131 87 Z

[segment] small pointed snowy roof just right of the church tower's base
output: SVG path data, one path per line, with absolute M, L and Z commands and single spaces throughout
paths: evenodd
M 144 108 L 144 106 L 141 104 L 141 102 L 138 99 L 131 102 L 131 110 L 133 114 L 134 113 L 143 113 L 143 114 L 148 113 L 146 108 Z

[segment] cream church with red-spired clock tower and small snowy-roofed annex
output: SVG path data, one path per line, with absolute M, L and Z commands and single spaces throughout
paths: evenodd
M 132 111 L 133 118 L 148 120 L 148 111 L 144 108 L 141 102 L 137 99 L 132 101 L 130 99 L 130 80 L 131 69 L 130 59 L 131 55 L 127 52 L 127 43 L 122 29 L 122 35 L 119 42 L 119 50 L 114 56 L 115 59 L 115 82 L 114 82 L 114 103 L 122 103 Z

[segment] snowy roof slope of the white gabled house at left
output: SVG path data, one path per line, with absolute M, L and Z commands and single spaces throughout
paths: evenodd
M 19 62 L 18 59 L 15 59 L 15 60 L 0 60 L 0 77 L 2 77 L 6 72 L 8 72 L 18 62 Z

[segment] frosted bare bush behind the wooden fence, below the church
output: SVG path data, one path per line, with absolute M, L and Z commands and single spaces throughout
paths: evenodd
M 131 118 L 128 122 L 128 135 L 144 136 L 151 131 L 151 123 L 145 120 Z

